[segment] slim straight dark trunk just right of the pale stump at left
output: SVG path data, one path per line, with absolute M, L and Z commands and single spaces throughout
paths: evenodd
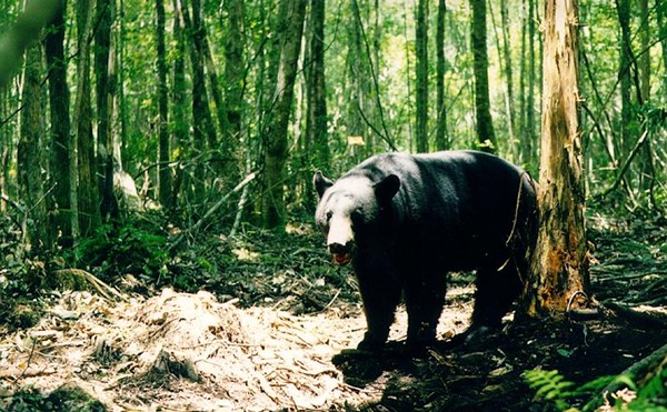
M 167 87 L 167 52 L 165 50 L 165 1 L 156 0 L 156 40 L 158 50 L 158 135 L 159 135 L 159 191 L 160 203 L 173 208 L 171 183 L 171 137 L 169 135 L 169 88 Z

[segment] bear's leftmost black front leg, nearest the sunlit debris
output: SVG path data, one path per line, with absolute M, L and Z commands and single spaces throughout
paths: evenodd
M 401 290 L 400 282 L 390 278 L 378 272 L 357 274 L 368 325 L 364 340 L 357 345 L 360 351 L 378 351 L 389 336 Z

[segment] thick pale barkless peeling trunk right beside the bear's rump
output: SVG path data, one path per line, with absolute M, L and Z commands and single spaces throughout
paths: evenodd
M 564 312 L 588 293 L 584 177 L 578 121 L 576 0 L 545 6 L 539 232 L 521 302 L 537 316 Z

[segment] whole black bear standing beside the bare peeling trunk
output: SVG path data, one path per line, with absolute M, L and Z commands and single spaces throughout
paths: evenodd
M 522 288 L 537 233 L 535 183 L 492 154 L 385 153 L 336 182 L 317 172 L 315 214 L 334 262 L 351 261 L 367 332 L 385 344 L 401 292 L 409 346 L 436 339 L 448 271 L 476 270 L 469 333 L 500 326 Z

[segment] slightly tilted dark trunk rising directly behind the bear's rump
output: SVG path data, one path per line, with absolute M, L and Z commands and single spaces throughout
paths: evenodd
M 472 22 L 470 24 L 470 41 L 472 48 L 472 70 L 475 72 L 475 111 L 477 121 L 477 138 L 484 151 L 494 152 L 497 148 L 496 133 L 491 119 L 489 101 L 489 59 L 486 41 L 486 0 L 470 0 Z

